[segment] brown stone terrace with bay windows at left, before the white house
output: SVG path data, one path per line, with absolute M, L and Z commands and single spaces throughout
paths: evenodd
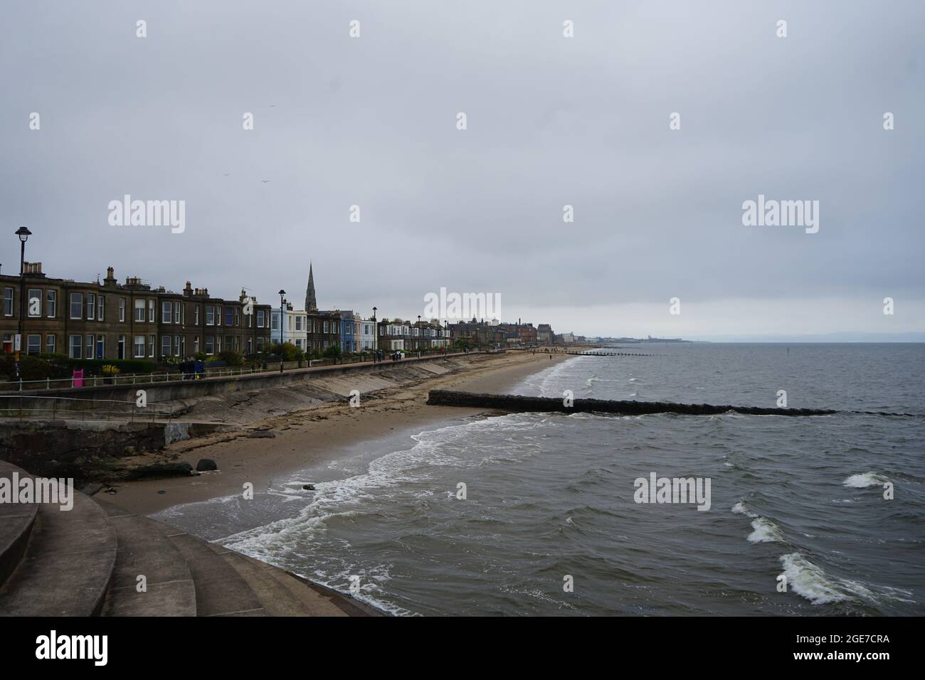
M 102 282 L 49 278 L 37 262 L 26 263 L 21 279 L 0 276 L 0 290 L 3 352 L 14 350 L 20 305 L 27 353 L 157 361 L 226 349 L 251 353 L 269 342 L 270 305 L 244 291 L 224 300 L 189 281 L 180 292 L 153 289 L 137 277 L 119 284 L 111 266 Z

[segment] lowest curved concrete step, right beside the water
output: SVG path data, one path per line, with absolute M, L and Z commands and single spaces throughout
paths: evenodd
M 210 543 L 209 548 L 231 565 L 248 586 L 267 616 L 348 616 L 350 612 L 338 606 L 340 597 L 322 594 L 308 587 L 288 572 L 254 560 L 253 557 Z

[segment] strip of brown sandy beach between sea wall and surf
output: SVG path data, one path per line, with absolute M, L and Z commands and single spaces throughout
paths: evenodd
M 550 359 L 551 356 L 551 359 Z M 255 492 L 270 481 L 343 455 L 365 441 L 388 436 L 394 431 L 427 427 L 443 420 L 485 414 L 484 410 L 426 405 L 429 389 L 462 389 L 473 392 L 505 393 L 524 377 L 568 355 L 531 352 L 482 354 L 472 364 L 442 376 L 417 380 L 398 387 L 378 389 L 371 398 L 361 397 L 359 407 L 347 402 L 324 402 L 290 413 L 254 419 L 247 423 L 266 435 L 253 438 L 240 433 L 219 433 L 187 439 L 150 454 L 154 462 L 212 458 L 219 471 L 200 476 L 120 482 L 116 494 L 105 498 L 133 513 L 151 514 L 180 503 L 207 501 L 238 494 L 245 482 Z M 278 400 L 277 393 L 277 400 Z

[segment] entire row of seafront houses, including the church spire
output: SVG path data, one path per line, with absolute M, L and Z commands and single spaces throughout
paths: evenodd
M 289 301 L 274 307 L 240 291 L 218 298 L 206 288 L 154 288 L 141 278 L 119 283 L 113 267 L 102 281 L 51 278 L 41 263 L 26 263 L 22 276 L 0 275 L 4 353 L 64 353 L 75 359 L 186 359 L 223 350 L 252 354 L 291 342 L 302 352 L 419 352 L 448 348 L 457 338 L 487 347 L 551 342 L 548 325 L 500 324 L 473 319 L 441 325 L 437 319 L 364 317 L 351 310 L 319 310 L 309 267 L 302 309 Z M 21 347 L 16 348 L 21 315 Z

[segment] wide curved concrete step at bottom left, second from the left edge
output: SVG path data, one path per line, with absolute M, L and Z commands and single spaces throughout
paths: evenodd
M 116 549 L 116 532 L 106 513 L 80 491 L 74 491 L 69 511 L 39 505 L 19 565 L 0 587 L 0 614 L 98 614 Z

